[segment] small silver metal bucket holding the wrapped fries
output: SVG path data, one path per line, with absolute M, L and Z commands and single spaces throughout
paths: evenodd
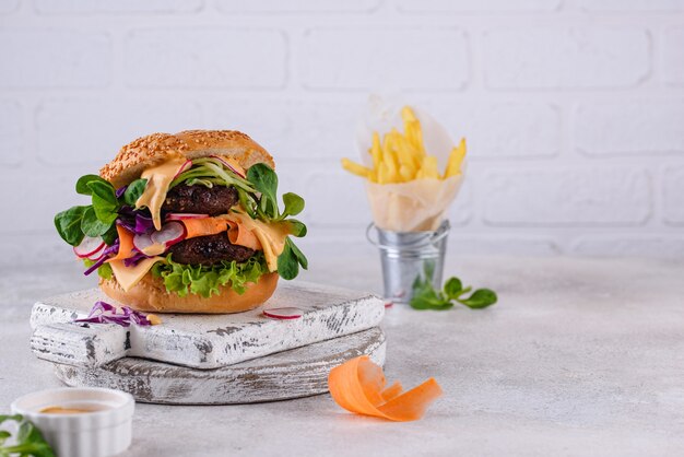
M 378 232 L 377 239 L 370 235 L 373 227 Z M 390 232 L 373 223 L 368 225 L 366 237 L 380 249 L 385 300 L 411 302 L 416 280 L 429 280 L 436 290 L 441 289 L 450 228 L 449 221 L 444 221 L 435 232 Z

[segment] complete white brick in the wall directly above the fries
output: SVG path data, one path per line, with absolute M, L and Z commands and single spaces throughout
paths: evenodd
M 299 77 L 312 90 L 460 90 L 470 70 L 456 28 L 315 28 L 302 54 Z

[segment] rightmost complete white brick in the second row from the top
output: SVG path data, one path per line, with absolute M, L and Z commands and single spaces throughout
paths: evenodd
M 650 72 L 650 35 L 637 27 L 488 31 L 484 73 L 492 89 L 633 87 Z

